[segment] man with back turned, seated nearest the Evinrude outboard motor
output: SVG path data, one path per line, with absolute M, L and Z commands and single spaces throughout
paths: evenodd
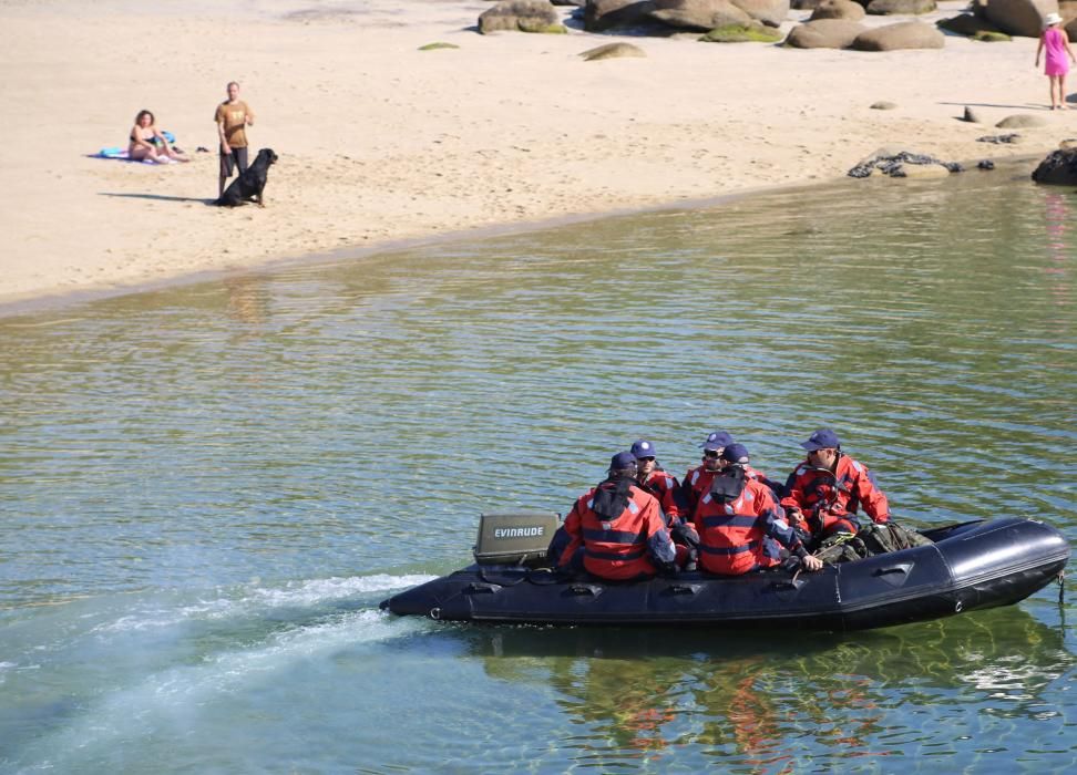
M 676 572 L 676 549 L 655 497 L 636 482 L 636 456 L 618 452 L 609 476 L 576 499 L 563 525 L 558 568 L 581 567 L 613 581 Z

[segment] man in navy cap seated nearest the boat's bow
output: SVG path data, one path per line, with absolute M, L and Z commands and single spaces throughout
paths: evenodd
M 781 505 L 813 545 L 835 533 L 860 530 L 855 515 L 861 506 L 872 520 L 890 520 L 890 505 L 875 477 L 868 466 L 841 451 L 833 431 L 819 428 L 800 446 L 808 451 L 808 458 L 789 475 Z

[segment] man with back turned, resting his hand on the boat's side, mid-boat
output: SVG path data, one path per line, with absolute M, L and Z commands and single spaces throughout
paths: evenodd
M 806 570 L 819 570 L 822 561 L 808 554 L 770 487 L 748 475 L 748 450 L 730 444 L 721 452 L 726 466 L 699 498 L 696 530 L 699 565 L 724 576 L 739 576 L 779 565 L 789 555 L 800 558 Z M 783 555 L 780 546 L 787 549 Z

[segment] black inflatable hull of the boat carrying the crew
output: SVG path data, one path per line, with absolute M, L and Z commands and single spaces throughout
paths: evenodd
M 1034 519 L 953 525 L 934 544 L 792 577 L 681 574 L 642 582 L 470 566 L 382 601 L 398 614 L 534 624 L 735 624 L 865 630 L 1025 599 L 1066 567 L 1069 545 Z

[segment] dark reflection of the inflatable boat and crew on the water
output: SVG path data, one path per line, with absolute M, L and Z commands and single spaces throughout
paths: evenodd
M 577 725 L 565 744 L 581 760 L 601 752 L 606 766 L 686 747 L 775 773 L 797 772 L 804 755 L 835 768 L 956 755 L 953 716 L 970 706 L 1012 720 L 1009 730 L 1061 721 L 1045 692 L 1075 662 L 1061 630 L 1018 608 L 797 644 L 699 630 L 496 627 L 448 637 L 499 681 L 552 686 Z M 904 717 L 910 706 L 920 710 Z

